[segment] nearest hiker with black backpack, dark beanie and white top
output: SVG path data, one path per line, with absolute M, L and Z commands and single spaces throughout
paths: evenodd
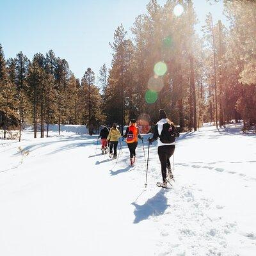
M 159 121 L 154 127 L 154 135 L 152 138 L 148 138 L 149 143 L 157 140 L 157 152 L 161 163 L 161 172 L 163 177 L 163 183 L 157 182 L 157 186 L 163 188 L 167 187 L 166 170 L 168 170 L 168 178 L 173 179 L 172 168 L 170 163 L 170 157 L 175 150 L 175 137 L 178 132 L 168 118 L 163 109 L 159 110 Z

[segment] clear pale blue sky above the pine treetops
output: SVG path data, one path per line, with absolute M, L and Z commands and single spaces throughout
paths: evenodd
M 65 58 L 75 76 L 86 68 L 95 74 L 106 63 L 110 67 L 109 42 L 117 26 L 132 27 L 134 19 L 146 12 L 149 0 L 1 0 L 0 44 L 6 58 L 22 51 L 28 58 L 52 49 Z M 165 0 L 159 0 L 160 4 Z M 199 24 L 212 12 L 214 21 L 225 20 L 223 4 L 194 0 Z

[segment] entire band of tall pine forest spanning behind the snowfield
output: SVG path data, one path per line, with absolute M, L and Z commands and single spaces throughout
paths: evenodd
M 53 51 L 28 60 L 22 52 L 4 59 L 0 45 L 0 128 L 33 123 L 48 136 L 49 124 L 85 124 L 90 134 L 100 124 L 130 118 L 154 124 L 159 108 L 180 131 L 196 131 L 203 122 L 225 127 L 244 120 L 256 123 L 256 2 L 224 0 L 230 24 L 205 17 L 202 35 L 195 31 L 190 0 L 156 0 L 147 4 L 131 28 L 121 24 L 110 47 L 111 67 L 103 65 L 99 79 L 88 68 L 81 81 L 65 59 Z M 121 129 L 123 131 L 123 129 Z

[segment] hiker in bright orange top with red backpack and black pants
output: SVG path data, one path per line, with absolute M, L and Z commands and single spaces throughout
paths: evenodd
M 138 146 L 138 138 L 140 140 L 143 140 L 143 138 L 140 136 L 140 131 L 136 126 L 135 119 L 131 119 L 130 125 L 129 127 L 127 127 L 123 138 L 125 138 L 127 146 L 130 150 L 130 161 L 131 161 L 131 166 L 133 166 L 135 162 L 135 157 L 136 157 L 135 150 L 136 150 L 136 147 Z

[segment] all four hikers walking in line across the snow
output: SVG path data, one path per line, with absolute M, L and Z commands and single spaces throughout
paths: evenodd
M 163 177 L 163 182 L 157 182 L 157 186 L 167 188 L 167 182 L 170 181 L 170 179 L 173 179 L 170 157 L 174 153 L 175 138 L 177 136 L 179 136 L 177 128 L 173 122 L 167 118 L 166 112 L 163 109 L 160 109 L 159 121 L 154 126 L 154 134 L 152 138 L 148 138 L 148 147 L 152 142 L 157 140 L 157 153 L 161 163 L 161 173 Z M 98 137 L 98 139 L 101 138 L 102 154 L 107 154 L 107 148 L 109 147 L 109 157 L 116 159 L 118 141 L 122 137 L 129 148 L 130 163 L 131 166 L 133 166 L 136 159 L 138 139 L 143 142 L 143 137 L 140 135 L 135 119 L 131 119 L 129 127 L 127 127 L 123 136 L 118 130 L 116 123 L 114 123 L 110 129 L 106 125 L 103 125 Z

